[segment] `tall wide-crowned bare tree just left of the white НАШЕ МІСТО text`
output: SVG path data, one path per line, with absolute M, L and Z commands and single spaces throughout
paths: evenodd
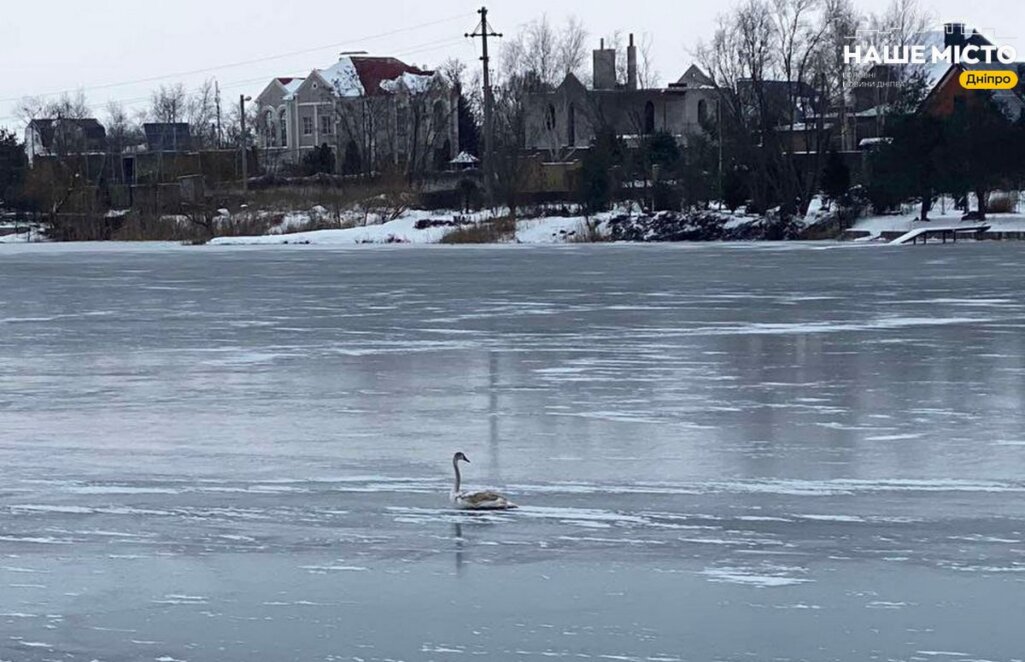
M 754 206 L 779 206 L 786 220 L 817 187 L 832 128 L 822 90 L 837 88 L 825 66 L 832 25 L 827 0 L 746 0 L 721 16 L 698 57 L 721 93 L 721 139 L 748 175 Z M 853 20 L 853 16 L 849 16 Z M 798 154 L 803 153 L 803 154 Z M 798 163 L 801 161 L 802 163 Z

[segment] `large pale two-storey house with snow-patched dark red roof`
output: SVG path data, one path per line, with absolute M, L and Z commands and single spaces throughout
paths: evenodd
M 327 146 L 340 174 L 417 174 L 444 168 L 459 144 L 456 90 L 395 57 L 343 54 L 303 78 L 275 78 L 256 105 L 272 171 Z

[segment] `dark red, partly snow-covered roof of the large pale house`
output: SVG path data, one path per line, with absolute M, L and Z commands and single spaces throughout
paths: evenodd
M 343 56 L 317 74 L 340 96 L 379 96 L 401 88 L 423 91 L 435 72 L 407 65 L 395 57 Z

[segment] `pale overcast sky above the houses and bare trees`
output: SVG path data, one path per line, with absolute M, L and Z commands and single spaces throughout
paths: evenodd
M 888 0 L 857 0 L 865 11 Z M 16 126 L 19 98 L 82 88 L 97 117 L 109 99 L 145 106 L 161 83 L 220 83 L 225 104 L 257 94 L 274 76 L 301 76 L 335 61 L 342 50 L 437 65 L 461 57 L 476 65 L 481 0 L 26 0 L 5 1 L 0 19 L 0 125 Z M 1021 0 L 932 0 L 938 22 L 996 28 L 1025 52 Z M 591 42 L 619 30 L 651 35 L 661 80 L 691 64 L 698 40 L 722 11 L 709 0 L 492 0 L 499 32 L 515 33 L 547 13 L 580 17 Z M 389 34 L 388 34 L 389 33 Z M 1025 40 L 1023 40 L 1025 42 Z M 298 52 L 301 51 L 301 52 Z

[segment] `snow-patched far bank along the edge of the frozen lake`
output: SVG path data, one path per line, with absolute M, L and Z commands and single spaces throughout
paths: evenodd
M 937 214 L 919 221 L 913 214 L 859 218 L 848 226 L 833 215 L 810 213 L 782 221 L 773 214 L 743 210 L 695 210 L 648 213 L 621 208 L 583 214 L 570 207 L 535 209 L 512 218 L 508 210 L 464 214 L 453 210 L 408 209 L 394 217 L 331 214 L 323 207 L 298 211 L 230 212 L 222 209 L 196 233 L 184 216 L 163 216 L 156 235 L 132 241 L 172 241 L 215 246 L 253 245 L 368 245 L 368 244 L 574 244 L 661 243 L 786 240 L 848 240 L 879 242 L 907 232 L 939 225 L 985 224 L 987 239 L 1025 239 L 1025 214 L 994 213 L 985 221 L 962 221 L 959 212 Z M 38 225 L 19 225 L 0 232 L 0 244 L 49 241 Z M 211 238 L 210 235 L 213 235 Z M 112 241 L 118 241 L 113 239 Z M 124 241 L 124 239 L 121 239 Z

